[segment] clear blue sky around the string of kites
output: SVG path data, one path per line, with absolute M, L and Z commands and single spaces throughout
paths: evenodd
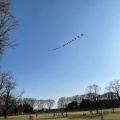
M 13 13 L 19 46 L 6 50 L 2 69 L 23 97 L 57 101 L 120 79 L 120 0 L 13 0 Z

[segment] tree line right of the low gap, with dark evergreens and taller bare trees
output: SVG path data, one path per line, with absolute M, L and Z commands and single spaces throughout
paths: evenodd
M 61 97 L 58 108 L 71 110 L 96 110 L 120 107 L 120 80 L 114 80 L 105 88 L 105 93 L 100 94 L 99 85 L 93 84 L 86 88 L 85 94 L 73 97 Z

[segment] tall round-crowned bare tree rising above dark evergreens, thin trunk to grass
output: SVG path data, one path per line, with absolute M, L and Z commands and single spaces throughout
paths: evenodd
M 101 88 L 98 85 L 90 85 L 87 87 L 86 92 L 90 100 L 94 101 L 96 104 L 96 113 L 98 114 L 97 100 L 98 94 L 101 91 Z

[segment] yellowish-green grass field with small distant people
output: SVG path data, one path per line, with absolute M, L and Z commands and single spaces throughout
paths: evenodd
M 101 110 L 100 110 L 101 111 Z M 120 109 L 115 109 L 115 113 L 112 113 L 112 109 L 102 110 L 104 111 L 104 120 L 120 120 Z M 83 113 L 86 113 L 86 116 L 83 116 Z M 95 113 L 95 111 L 93 111 Z M 30 115 L 19 115 L 19 116 L 8 116 L 7 120 L 28 120 Z M 36 118 L 35 114 L 31 115 L 34 117 L 34 120 L 101 120 L 100 114 L 91 115 L 89 111 L 81 112 L 68 112 L 68 117 L 62 117 L 61 113 L 56 113 L 53 118 L 53 114 L 38 114 Z M 0 117 L 0 120 L 5 120 L 3 117 Z

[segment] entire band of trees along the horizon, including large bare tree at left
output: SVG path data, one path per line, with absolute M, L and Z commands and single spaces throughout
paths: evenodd
M 0 76 L 0 114 L 1 115 L 18 115 L 32 114 L 38 112 L 57 112 L 57 111 L 76 111 L 76 110 L 96 110 L 120 107 L 119 90 L 120 81 L 114 80 L 105 88 L 106 92 L 100 94 L 101 88 L 96 85 L 90 85 L 86 88 L 85 94 L 74 95 L 72 97 L 61 97 L 57 101 L 57 108 L 53 108 L 55 100 L 53 99 L 35 99 L 21 98 L 24 91 L 20 95 L 15 96 L 15 81 L 11 74 L 3 73 Z

